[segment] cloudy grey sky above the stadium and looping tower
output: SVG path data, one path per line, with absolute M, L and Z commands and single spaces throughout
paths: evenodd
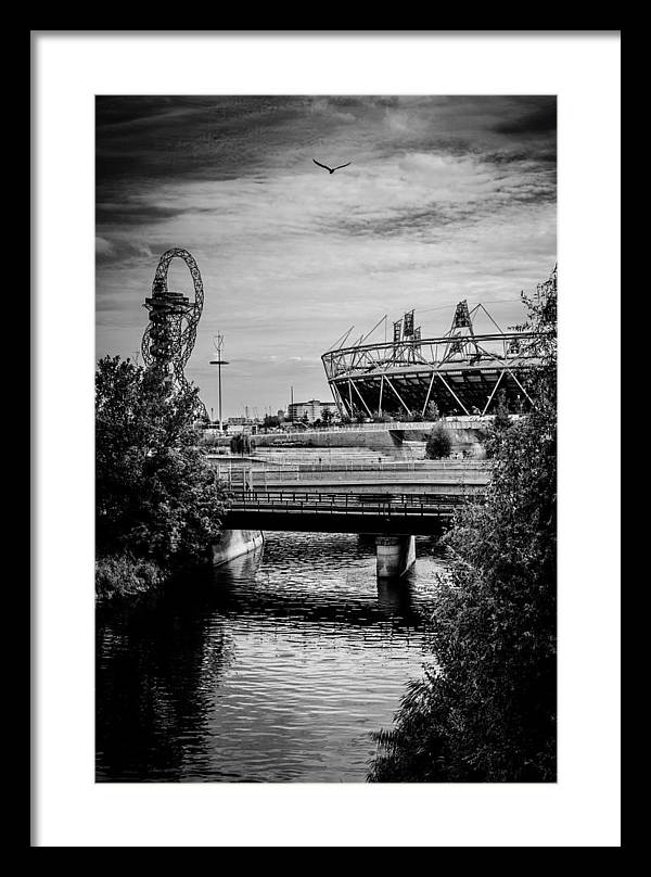
M 225 417 L 330 399 L 320 355 L 350 326 L 416 308 L 439 334 L 462 298 L 522 321 L 556 262 L 556 99 L 98 98 L 98 357 L 133 357 L 170 246 L 203 277 L 187 374 L 215 416 L 218 331 Z M 191 295 L 180 260 L 169 288 Z

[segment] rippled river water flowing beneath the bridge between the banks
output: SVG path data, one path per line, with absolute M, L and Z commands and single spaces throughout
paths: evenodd
M 258 551 L 97 624 L 100 781 L 363 781 L 370 733 L 420 675 L 444 563 L 379 585 L 349 534 L 267 533 Z

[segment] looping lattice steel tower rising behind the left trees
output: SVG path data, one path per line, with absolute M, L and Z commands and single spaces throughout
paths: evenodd
M 173 258 L 181 258 L 188 266 L 194 283 L 194 302 L 180 292 L 167 289 L 167 274 Z M 163 380 L 178 387 L 189 385 L 184 368 L 196 340 L 203 301 L 203 282 L 193 256 L 177 246 L 163 253 L 152 283 L 151 298 L 144 300 L 150 323 L 142 335 L 141 351 L 145 367 L 157 371 Z M 201 405 L 205 412 L 203 403 Z

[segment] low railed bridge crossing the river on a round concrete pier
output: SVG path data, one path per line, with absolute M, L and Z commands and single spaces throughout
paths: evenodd
M 485 462 L 420 462 L 334 469 L 308 463 L 291 474 L 257 461 L 257 468 L 231 467 L 232 501 L 224 523 L 229 533 L 259 534 L 251 537 L 259 541 L 264 530 L 373 534 L 378 576 L 400 576 L 416 560 L 414 537 L 439 533 L 461 505 L 482 499 L 490 478 Z

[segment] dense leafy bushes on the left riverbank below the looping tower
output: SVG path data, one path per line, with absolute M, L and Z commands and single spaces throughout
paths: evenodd
M 157 587 L 208 558 L 226 494 L 194 429 L 197 390 L 129 359 L 95 371 L 95 596 Z

